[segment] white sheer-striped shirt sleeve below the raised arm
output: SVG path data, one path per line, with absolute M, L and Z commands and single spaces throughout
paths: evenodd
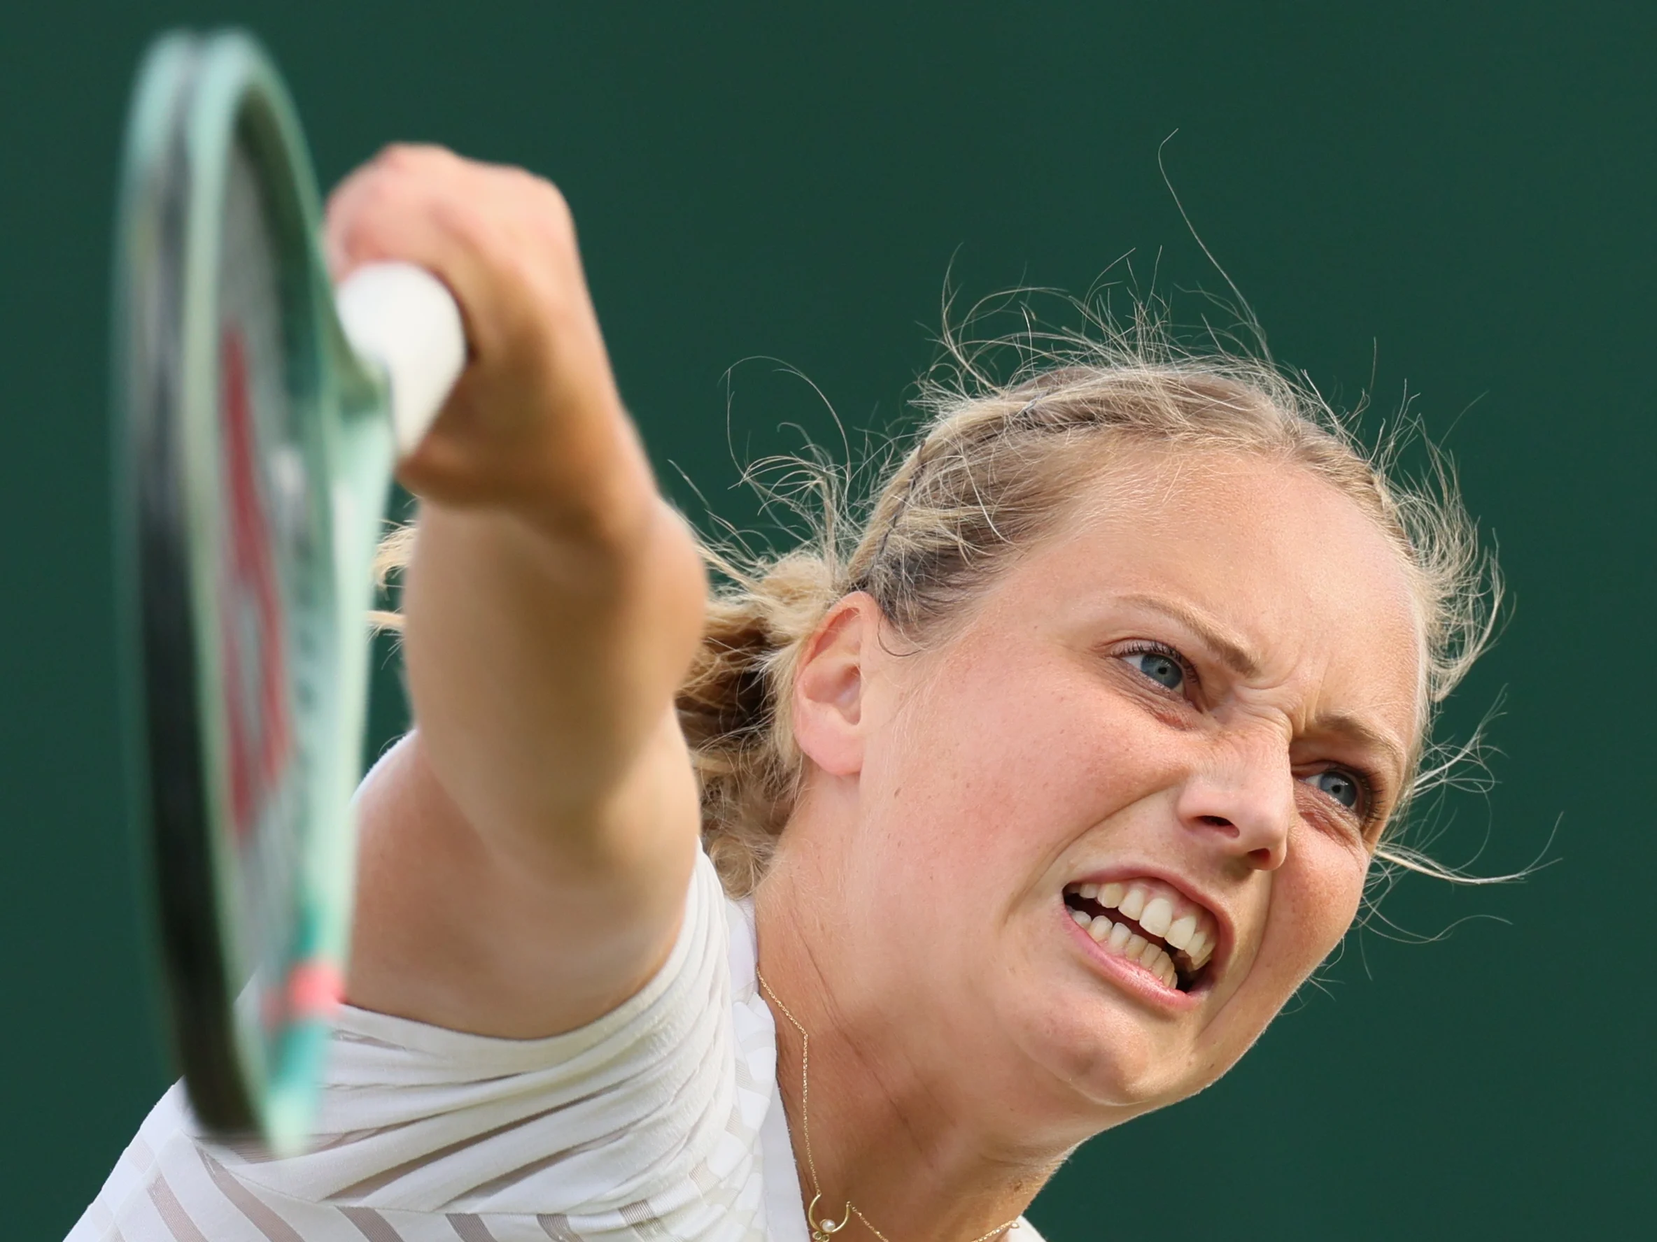
M 565 1035 L 502 1040 L 346 1009 L 312 1151 L 272 1159 L 156 1136 L 157 1176 L 167 1153 L 192 1176 L 207 1163 L 220 1191 L 229 1177 L 295 1225 L 316 1212 L 341 1224 L 477 1216 L 517 1217 L 535 1237 L 737 1237 L 737 1220 L 757 1220 L 761 1187 L 737 1090 L 729 934 L 699 856 L 666 964 L 616 1010 Z M 181 1131 L 192 1131 L 187 1111 Z M 114 1181 L 89 1216 L 121 1220 Z M 141 1194 L 123 1186 L 119 1197 Z M 313 1235 L 333 1237 L 303 1229 Z

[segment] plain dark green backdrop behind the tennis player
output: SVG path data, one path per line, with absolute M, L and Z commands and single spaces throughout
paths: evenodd
M 265 36 L 325 182 L 393 137 L 567 190 L 623 391 L 736 518 L 736 457 L 903 411 L 968 293 L 1221 288 L 1278 354 L 1448 432 L 1514 608 L 1450 714 L 1506 689 L 1500 785 L 1327 994 L 1201 1098 L 1085 1148 L 1054 1239 L 1645 1235 L 1654 1068 L 1650 7 L 13 3 L 0 15 L 0 1158 L 58 1237 L 169 1080 L 118 808 L 106 285 L 146 38 Z M 669 12 L 673 10 L 673 12 Z M 1157 10 L 1157 12 L 1152 12 Z M 1645 10 L 1644 13 L 1640 10 Z M 734 450 L 734 455 L 732 455 Z M 681 498 L 686 489 L 669 479 Z M 389 684 L 389 677 L 383 676 Z M 381 686 L 384 691 L 386 686 Z M 378 729 L 396 724 L 381 694 Z M 896 1240 L 896 1242 L 901 1242 Z

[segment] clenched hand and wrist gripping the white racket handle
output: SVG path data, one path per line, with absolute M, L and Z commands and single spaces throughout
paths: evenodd
M 418 263 L 461 305 L 469 363 L 398 479 L 461 508 L 507 508 L 557 533 L 626 527 L 650 467 L 621 407 L 563 195 L 522 169 L 394 146 L 328 200 L 335 282 Z

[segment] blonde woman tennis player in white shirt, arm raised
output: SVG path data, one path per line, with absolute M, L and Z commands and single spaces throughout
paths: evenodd
M 1032 1242 L 1352 926 L 1491 570 L 1269 366 L 936 389 L 867 525 L 711 593 L 552 185 L 398 147 L 328 245 L 437 273 L 472 359 L 401 470 L 321 1133 L 176 1086 L 75 1242 Z

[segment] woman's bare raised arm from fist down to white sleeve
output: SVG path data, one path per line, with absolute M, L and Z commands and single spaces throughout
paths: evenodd
M 696 858 L 673 696 L 701 638 L 696 542 L 621 406 L 563 199 L 393 147 L 328 207 L 336 280 L 376 260 L 456 295 L 471 359 L 399 467 L 414 732 L 358 798 L 351 1004 L 534 1038 L 661 965 Z

